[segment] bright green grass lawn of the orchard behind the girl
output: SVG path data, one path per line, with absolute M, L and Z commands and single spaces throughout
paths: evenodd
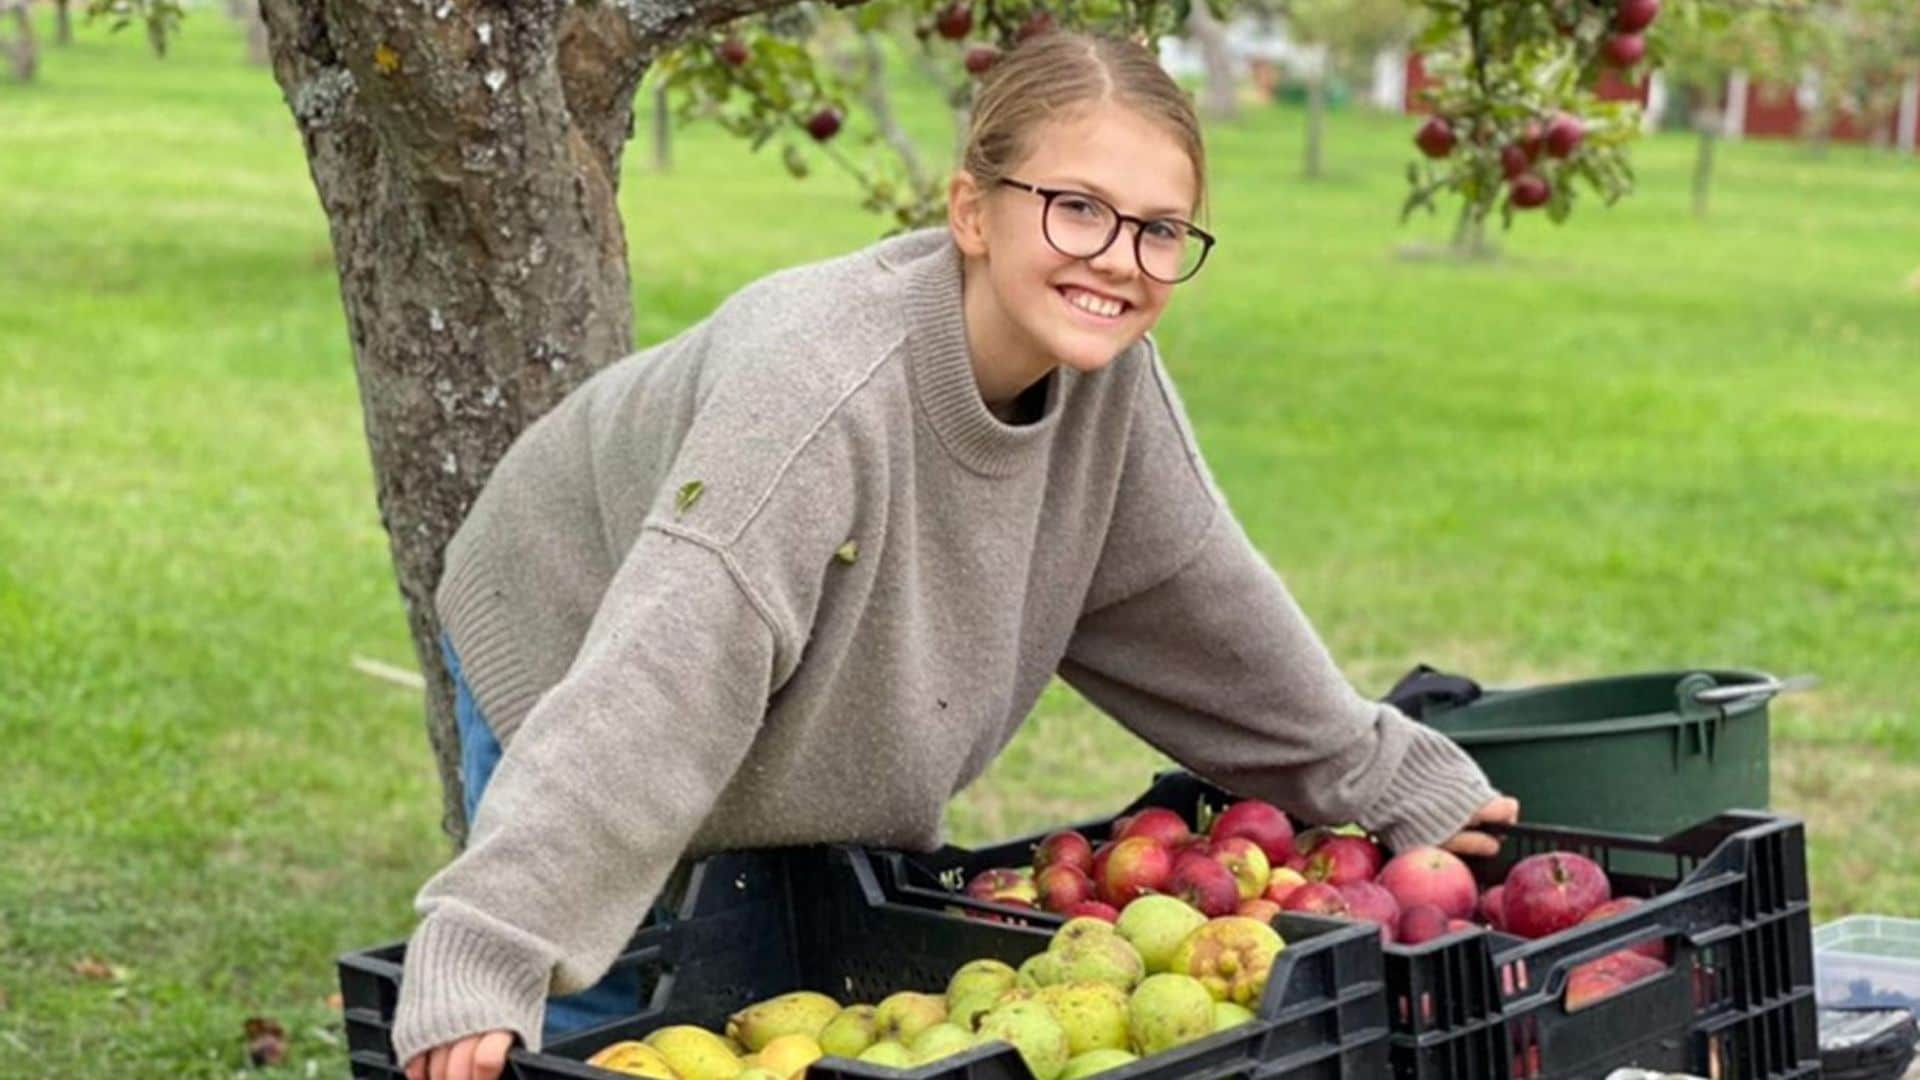
M 939 144 L 941 117 L 918 110 Z M 1818 673 L 1774 709 L 1820 919 L 1920 915 L 1920 161 L 1636 148 L 1642 190 L 1409 259 L 1411 125 L 1213 125 L 1221 250 L 1160 340 L 1215 475 L 1354 682 Z M 879 231 L 822 169 L 630 156 L 637 338 Z M 344 1074 L 340 951 L 442 865 L 326 223 L 265 69 L 83 29 L 0 83 L 0 1074 Z M 1154 753 L 1056 688 L 954 838 L 1104 811 Z M 1622 778 L 1632 782 L 1632 778 Z M 117 978 L 75 970 L 98 959 Z

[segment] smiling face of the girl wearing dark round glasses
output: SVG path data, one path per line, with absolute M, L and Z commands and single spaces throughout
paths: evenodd
M 1096 194 L 1135 217 L 1192 221 L 1192 160 L 1169 131 L 1129 108 L 1077 110 L 1029 133 L 1027 144 L 1025 161 L 1010 171 L 1014 181 Z M 1140 273 L 1133 223 L 1119 227 L 1106 252 L 1071 258 L 1041 233 L 1044 208 L 1039 194 L 1006 184 L 981 190 L 966 173 L 950 198 L 954 240 L 985 269 L 987 294 L 968 298 L 973 350 L 1018 375 L 1016 390 L 1058 363 L 1106 367 L 1154 327 L 1173 292 Z

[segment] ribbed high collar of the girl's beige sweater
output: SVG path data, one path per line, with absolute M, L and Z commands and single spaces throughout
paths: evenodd
M 987 409 L 973 379 L 962 306 L 962 256 L 947 229 L 927 229 L 902 238 L 912 242 L 900 265 L 908 317 L 908 379 L 914 402 L 948 454 L 975 473 L 1008 477 L 1046 455 L 1060 413 L 1079 377 L 1054 367 L 1046 382 L 1041 419 L 1008 425 Z

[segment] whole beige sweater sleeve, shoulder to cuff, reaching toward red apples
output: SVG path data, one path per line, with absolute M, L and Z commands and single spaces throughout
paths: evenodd
M 1494 798 L 1484 773 L 1354 690 L 1240 528 L 1171 379 L 1148 359 L 1062 678 L 1233 792 L 1311 822 L 1357 821 L 1396 847 L 1452 836 Z

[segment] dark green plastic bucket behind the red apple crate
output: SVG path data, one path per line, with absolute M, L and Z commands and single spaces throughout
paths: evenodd
M 1661 671 L 1486 690 L 1423 719 L 1521 799 L 1524 821 L 1670 836 L 1766 809 L 1766 703 L 1788 688 L 1757 671 Z

